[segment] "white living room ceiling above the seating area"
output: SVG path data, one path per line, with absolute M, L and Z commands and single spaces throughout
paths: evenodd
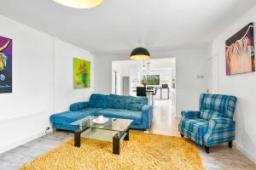
M 91 9 L 0 0 L 0 14 L 95 54 L 206 46 L 255 0 L 104 0 Z M 141 40 L 142 42 L 139 42 Z

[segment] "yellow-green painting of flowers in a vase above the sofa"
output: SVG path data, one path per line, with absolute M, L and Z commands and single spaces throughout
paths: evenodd
M 90 61 L 73 58 L 74 88 L 90 88 Z

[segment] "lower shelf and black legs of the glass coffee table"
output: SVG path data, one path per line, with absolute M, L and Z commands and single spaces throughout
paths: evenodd
M 109 141 L 113 143 L 113 154 L 120 154 L 120 141 L 129 140 L 129 128 L 124 132 L 106 130 L 96 127 L 85 128 L 82 132 L 74 133 L 74 146 L 81 146 L 81 137 L 86 139 L 97 139 L 103 141 Z

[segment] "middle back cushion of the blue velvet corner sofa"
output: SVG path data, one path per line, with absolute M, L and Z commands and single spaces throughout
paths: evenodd
M 126 109 L 127 96 L 110 94 L 108 96 L 108 108 L 112 109 Z

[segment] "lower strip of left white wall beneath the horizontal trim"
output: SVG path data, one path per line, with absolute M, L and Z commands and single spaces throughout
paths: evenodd
M 45 135 L 49 115 L 38 112 L 0 121 L 0 153 Z

